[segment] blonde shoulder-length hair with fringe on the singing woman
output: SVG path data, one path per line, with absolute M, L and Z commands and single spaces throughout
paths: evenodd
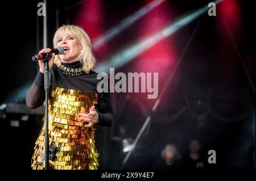
M 96 59 L 92 53 L 92 43 L 90 43 L 90 38 L 87 33 L 79 26 L 74 25 L 64 25 L 57 29 L 55 35 L 53 37 L 53 46 L 57 47 L 57 40 L 58 37 L 70 34 L 75 36 L 76 39 L 79 40 L 80 44 L 82 45 L 81 54 L 79 56 L 79 60 L 81 64 L 84 66 L 84 70 L 86 73 L 89 74 L 90 70 L 94 68 Z M 57 66 L 61 65 L 61 60 L 59 55 L 55 56 L 54 63 Z

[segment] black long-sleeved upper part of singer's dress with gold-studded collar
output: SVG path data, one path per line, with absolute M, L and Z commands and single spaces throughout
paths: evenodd
M 59 67 L 56 64 L 53 64 L 49 73 L 51 77 L 51 85 L 98 94 L 98 105 L 96 106 L 96 110 L 98 112 L 99 121 L 97 124 L 105 126 L 113 124 L 115 115 L 110 92 L 100 93 L 97 91 L 97 83 L 101 81 L 101 79 L 97 79 L 98 73 L 93 70 L 90 70 L 89 74 L 85 73 L 80 61 L 68 64 L 62 63 Z M 36 91 L 44 91 L 43 73 L 40 71 L 38 72 L 38 75 L 34 80 L 34 85 L 32 86 L 41 87 L 40 89 L 36 89 Z

